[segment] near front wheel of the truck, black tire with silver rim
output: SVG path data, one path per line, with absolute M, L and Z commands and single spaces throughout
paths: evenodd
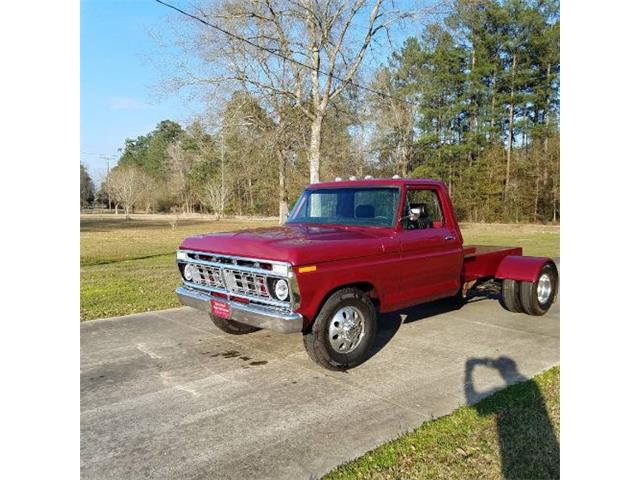
M 309 357 L 329 370 L 346 370 L 364 362 L 377 332 L 376 309 L 358 288 L 332 294 L 304 333 Z

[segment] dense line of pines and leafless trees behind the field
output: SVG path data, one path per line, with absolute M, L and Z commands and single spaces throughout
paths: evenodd
M 559 220 L 557 1 L 457 1 L 324 119 L 320 178 L 445 181 L 472 221 Z M 215 122 L 128 139 L 99 198 L 129 210 L 277 215 L 309 179 L 309 118 L 236 92 Z M 283 125 L 286 128 L 283 128 Z M 104 200 L 103 200 L 104 201 Z

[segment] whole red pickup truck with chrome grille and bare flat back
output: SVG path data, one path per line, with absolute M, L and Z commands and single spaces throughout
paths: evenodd
M 309 185 L 284 226 L 186 238 L 177 251 L 184 305 L 231 334 L 301 332 L 329 369 L 362 363 L 378 313 L 502 284 L 502 305 L 543 315 L 558 271 L 521 247 L 463 245 L 447 189 L 428 179 Z

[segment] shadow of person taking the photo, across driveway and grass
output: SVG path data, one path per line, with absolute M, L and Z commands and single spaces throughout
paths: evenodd
M 501 388 L 485 392 L 475 389 L 473 370 L 479 365 L 496 369 L 505 386 L 521 385 L 517 391 L 507 390 L 486 398 Z M 503 477 L 559 478 L 560 446 L 544 397 L 535 382 L 520 374 L 516 362 L 509 357 L 470 358 L 465 365 L 464 382 L 467 405 L 480 415 L 495 415 Z

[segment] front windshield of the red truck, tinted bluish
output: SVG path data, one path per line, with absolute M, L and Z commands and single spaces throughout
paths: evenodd
M 399 197 L 397 187 L 305 190 L 287 223 L 392 227 Z

